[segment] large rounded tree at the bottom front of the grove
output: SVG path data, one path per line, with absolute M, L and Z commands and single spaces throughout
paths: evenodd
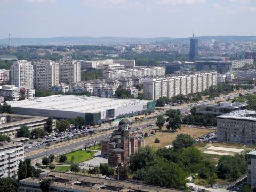
M 173 162 L 159 162 L 154 166 L 149 167 L 146 183 L 149 185 L 181 190 L 187 189 L 185 172 L 179 165 Z

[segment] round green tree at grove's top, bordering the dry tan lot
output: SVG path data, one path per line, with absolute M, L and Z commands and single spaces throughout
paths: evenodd
M 172 141 L 173 148 L 175 150 L 182 149 L 182 148 L 188 148 L 193 146 L 194 139 L 191 138 L 190 135 L 181 133 L 178 134 L 174 141 Z

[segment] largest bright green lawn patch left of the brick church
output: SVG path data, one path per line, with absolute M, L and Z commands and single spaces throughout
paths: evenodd
M 94 151 L 77 150 L 77 151 L 66 154 L 67 156 L 66 162 L 71 162 L 71 158 L 73 156 L 74 156 L 75 163 L 84 162 L 89 159 L 92 159 L 94 153 L 95 153 Z

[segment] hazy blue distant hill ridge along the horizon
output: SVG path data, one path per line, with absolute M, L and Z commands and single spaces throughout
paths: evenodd
M 180 43 L 189 42 L 188 38 L 129 38 L 129 37 L 51 37 L 51 38 L 12 38 L 11 45 L 121 45 L 135 43 Z M 256 36 L 201 36 L 199 41 L 215 39 L 218 42 L 256 41 Z M 0 39 L 0 45 L 9 45 L 9 39 Z

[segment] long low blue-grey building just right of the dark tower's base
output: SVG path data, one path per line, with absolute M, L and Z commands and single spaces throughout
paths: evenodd
M 214 70 L 218 71 L 221 68 L 223 71 L 231 71 L 231 61 L 196 61 L 196 70 Z

